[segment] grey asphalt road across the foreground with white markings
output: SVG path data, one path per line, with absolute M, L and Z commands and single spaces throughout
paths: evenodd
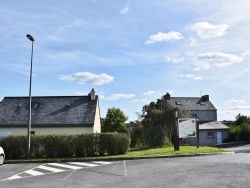
M 84 167 L 74 164 L 75 169 L 55 164 L 6 164 L 0 167 L 0 187 L 250 187 L 250 147 L 230 149 L 236 153 L 90 162 Z M 45 173 L 38 168 L 41 165 L 61 171 Z

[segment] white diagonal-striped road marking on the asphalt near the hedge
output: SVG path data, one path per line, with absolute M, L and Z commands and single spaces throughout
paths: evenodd
M 118 161 L 119 162 L 119 161 Z M 65 171 L 80 170 L 84 168 L 97 167 L 101 165 L 108 165 L 117 163 L 117 161 L 107 162 L 107 161 L 91 161 L 91 162 L 67 162 L 67 163 L 46 163 L 39 165 L 32 169 L 26 170 L 24 172 L 13 175 L 4 180 L 15 180 L 21 178 L 27 178 L 32 176 L 41 176 L 46 174 L 54 174 Z

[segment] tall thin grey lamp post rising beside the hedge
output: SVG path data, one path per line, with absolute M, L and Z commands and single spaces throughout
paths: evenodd
M 30 159 L 30 130 L 31 130 L 31 83 L 32 83 L 32 61 L 33 61 L 33 43 L 35 39 L 30 35 L 26 35 L 32 41 L 31 63 L 30 63 L 30 88 L 29 88 L 29 120 L 28 120 L 28 144 L 27 144 L 27 159 Z

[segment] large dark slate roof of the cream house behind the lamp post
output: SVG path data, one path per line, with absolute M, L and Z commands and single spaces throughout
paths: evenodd
M 98 96 L 32 97 L 32 126 L 93 126 Z M 5 97 L 0 103 L 0 127 L 27 126 L 29 97 Z

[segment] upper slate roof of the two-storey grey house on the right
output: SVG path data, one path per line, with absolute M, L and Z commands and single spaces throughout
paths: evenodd
M 187 111 L 216 110 L 209 100 L 202 97 L 171 97 L 169 102 Z

